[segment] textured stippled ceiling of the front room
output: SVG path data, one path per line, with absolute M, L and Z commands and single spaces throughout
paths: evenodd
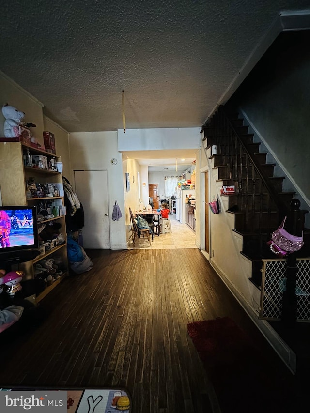
M 279 13 L 307 8 L 308 0 L 1 1 L 0 70 L 69 132 L 122 128 L 123 89 L 126 128 L 201 126 Z

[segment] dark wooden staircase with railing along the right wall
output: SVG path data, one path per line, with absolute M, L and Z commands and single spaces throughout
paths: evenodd
M 226 212 L 234 215 L 233 231 L 242 236 L 240 253 L 252 261 L 249 279 L 260 288 L 262 259 L 276 258 L 266 243 L 288 214 L 295 192 L 283 191 L 285 177 L 274 176 L 276 164 L 266 163 L 267 153 L 260 152 L 261 143 L 243 123 L 238 113 L 219 107 L 202 132 L 206 149 L 217 147 L 209 159 L 217 170 L 218 187 L 235 186 L 235 194 L 222 197 L 228 197 Z M 304 242 L 297 257 L 310 255 L 309 229 L 304 229 Z

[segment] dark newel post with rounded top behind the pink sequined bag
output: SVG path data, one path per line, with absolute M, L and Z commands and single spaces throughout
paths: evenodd
M 304 228 L 304 213 L 299 210 L 299 199 L 292 199 L 291 210 L 287 215 L 285 230 L 294 236 L 301 236 Z M 293 327 L 297 320 L 297 296 L 296 296 L 297 260 L 296 252 L 286 258 L 286 290 L 283 291 L 282 321 Z

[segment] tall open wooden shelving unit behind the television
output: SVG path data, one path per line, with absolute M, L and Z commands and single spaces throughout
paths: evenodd
M 57 257 L 58 262 L 61 262 L 61 268 L 64 269 L 62 276 L 53 278 L 54 281 L 52 281 L 50 285 L 47 284 L 47 288 L 36 297 L 36 301 L 38 302 L 60 283 L 68 271 L 65 208 L 63 194 L 60 191 L 62 189 L 62 173 L 57 170 L 47 169 L 48 166 L 46 165 L 47 168 L 42 168 L 42 165 L 40 165 L 41 168 L 25 165 L 27 155 L 30 155 L 31 159 L 32 156 L 43 157 L 44 161 L 47 160 L 49 167 L 51 166 L 52 158 L 55 158 L 57 161 L 58 157 L 55 154 L 33 148 L 22 142 L 0 142 L 0 188 L 2 205 L 36 206 L 37 214 L 40 214 L 42 204 L 53 203 L 55 205 L 55 209 L 53 210 L 57 211 L 55 213 L 56 216 L 51 217 L 49 215 L 49 218 L 45 218 L 41 215 L 41 220 L 38 220 L 38 229 L 54 222 L 61 224 L 60 232 L 62 234 L 62 243 L 58 245 L 56 241 L 47 243 L 48 245 L 46 247 L 41 248 L 41 255 L 35 257 L 33 260 L 18 264 L 19 268 L 25 273 L 24 279 L 34 279 L 37 275 L 36 264 L 40 263 L 41 260 Z M 26 182 L 33 183 L 31 191 L 29 187 L 26 186 Z M 37 185 L 37 190 L 34 189 L 34 183 Z M 55 196 L 47 197 L 41 192 L 43 185 L 47 183 L 50 188 L 55 188 L 53 194 Z M 58 191 L 60 191 L 60 193 L 58 193 Z M 59 215 L 60 213 L 62 213 L 62 215 Z

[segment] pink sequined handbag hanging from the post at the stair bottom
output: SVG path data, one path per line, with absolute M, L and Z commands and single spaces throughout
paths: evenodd
M 283 219 L 281 225 L 276 229 L 271 236 L 271 240 L 267 242 L 270 250 L 279 257 L 286 257 L 292 252 L 299 251 L 304 245 L 303 233 L 301 237 L 291 235 L 284 229 L 286 217 Z

